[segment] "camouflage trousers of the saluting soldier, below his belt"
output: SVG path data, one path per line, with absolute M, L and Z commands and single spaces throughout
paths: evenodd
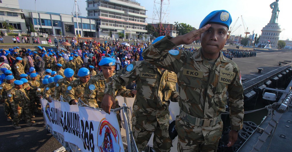
M 177 116 L 175 129 L 178 132 L 179 152 L 216 152 L 223 122 L 221 120 L 215 126 L 199 127 Z

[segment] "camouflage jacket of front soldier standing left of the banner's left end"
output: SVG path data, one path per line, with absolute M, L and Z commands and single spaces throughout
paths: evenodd
M 27 106 L 27 103 L 29 102 L 29 98 L 27 97 L 24 89 L 16 89 L 12 88 L 8 93 L 7 93 L 7 101 L 11 104 L 11 107 L 16 107 L 16 106 Z

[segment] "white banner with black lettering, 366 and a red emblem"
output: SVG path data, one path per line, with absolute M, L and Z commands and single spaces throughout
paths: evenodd
M 116 113 L 67 102 L 42 100 L 44 119 L 51 131 L 64 136 L 65 142 L 86 152 L 124 152 Z

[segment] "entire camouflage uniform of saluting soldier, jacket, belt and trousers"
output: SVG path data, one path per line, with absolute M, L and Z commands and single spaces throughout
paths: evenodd
M 239 68 L 222 52 L 213 65 L 203 57 L 201 48 L 196 52 L 171 50 L 176 45 L 170 38 L 166 36 L 150 45 L 142 55 L 146 61 L 177 73 L 181 98 L 175 122 L 178 151 L 216 151 L 227 94 L 231 129 L 240 130 L 243 125 L 244 90 Z

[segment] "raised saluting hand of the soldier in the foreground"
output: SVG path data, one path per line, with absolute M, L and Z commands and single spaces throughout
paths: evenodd
M 177 36 L 175 38 L 170 39 L 170 41 L 175 45 L 191 44 L 192 42 L 199 40 L 200 35 L 204 33 L 207 29 L 209 29 L 209 27 L 211 27 L 211 25 L 207 24 L 201 29 L 190 31 L 189 33 L 186 33 L 182 36 Z

